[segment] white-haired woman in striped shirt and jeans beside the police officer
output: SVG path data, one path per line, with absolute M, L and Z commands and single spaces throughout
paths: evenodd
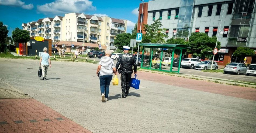
M 116 67 L 114 61 L 110 58 L 111 51 L 106 50 L 105 56 L 99 61 L 99 66 L 96 71 L 99 76 L 100 88 L 101 88 L 101 101 L 108 101 L 109 84 L 112 80 L 113 73 L 116 74 Z

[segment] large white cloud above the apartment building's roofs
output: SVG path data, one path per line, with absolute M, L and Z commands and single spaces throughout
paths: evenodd
M 44 14 L 64 14 L 78 12 L 81 13 L 87 10 L 96 10 L 92 6 L 92 1 L 89 0 L 55 0 L 44 5 L 37 5 L 37 11 Z

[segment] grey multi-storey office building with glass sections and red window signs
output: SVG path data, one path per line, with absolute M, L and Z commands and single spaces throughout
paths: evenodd
M 237 47 L 254 49 L 255 56 L 247 59 L 249 63 L 256 63 L 255 10 L 255 0 L 151 0 L 147 24 L 159 19 L 162 28 L 167 29 L 166 40 L 188 40 L 192 32 L 204 32 L 212 37 L 223 31 L 218 38 L 221 50 L 214 59 L 219 65 L 239 61 L 233 56 Z M 145 20 L 146 15 L 143 17 Z

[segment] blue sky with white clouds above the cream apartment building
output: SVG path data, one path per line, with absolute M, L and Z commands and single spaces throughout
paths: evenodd
M 148 1 L 148 0 L 146 0 Z M 137 22 L 140 0 L 0 0 L 0 21 L 8 25 L 9 36 L 22 23 L 41 18 L 64 16 L 65 13 L 102 14 L 117 19 L 125 19 L 127 32 L 131 32 Z

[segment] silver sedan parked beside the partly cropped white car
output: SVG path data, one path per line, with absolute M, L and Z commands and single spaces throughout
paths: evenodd
M 243 63 L 230 63 L 224 67 L 224 73 L 246 73 L 247 67 Z

